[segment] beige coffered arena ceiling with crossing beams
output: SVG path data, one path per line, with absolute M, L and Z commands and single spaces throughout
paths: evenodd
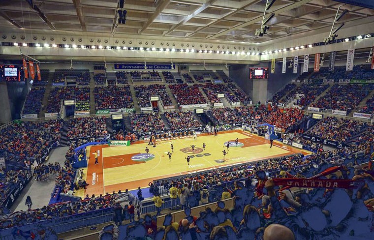
M 4 28 L 61 31 L 75 35 L 111 34 L 143 38 L 179 38 L 267 44 L 286 41 L 306 32 L 329 32 L 339 5 L 333 0 L 276 0 L 268 34 L 255 36 L 266 0 L 125 0 L 126 24 L 117 25 L 118 0 L 1 0 Z M 374 10 L 345 4 L 339 23 L 374 15 Z M 357 25 L 360 24 L 357 21 Z

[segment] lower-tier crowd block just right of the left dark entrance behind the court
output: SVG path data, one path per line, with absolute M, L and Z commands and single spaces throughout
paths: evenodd
M 142 113 L 129 115 L 131 120 L 131 127 L 136 132 L 153 132 L 163 131 L 165 124 L 159 114 L 155 113 Z

